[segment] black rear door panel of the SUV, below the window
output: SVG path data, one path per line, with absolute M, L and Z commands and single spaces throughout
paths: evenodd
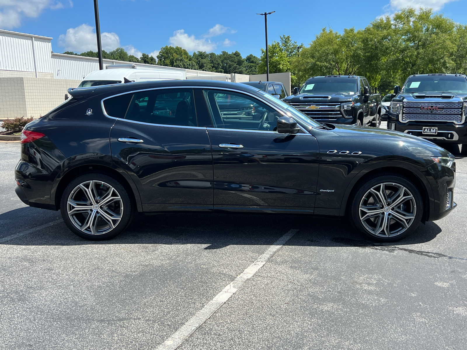
M 142 203 L 206 204 L 212 209 L 212 156 L 205 128 L 117 119 L 110 145 L 113 161 L 137 178 Z

